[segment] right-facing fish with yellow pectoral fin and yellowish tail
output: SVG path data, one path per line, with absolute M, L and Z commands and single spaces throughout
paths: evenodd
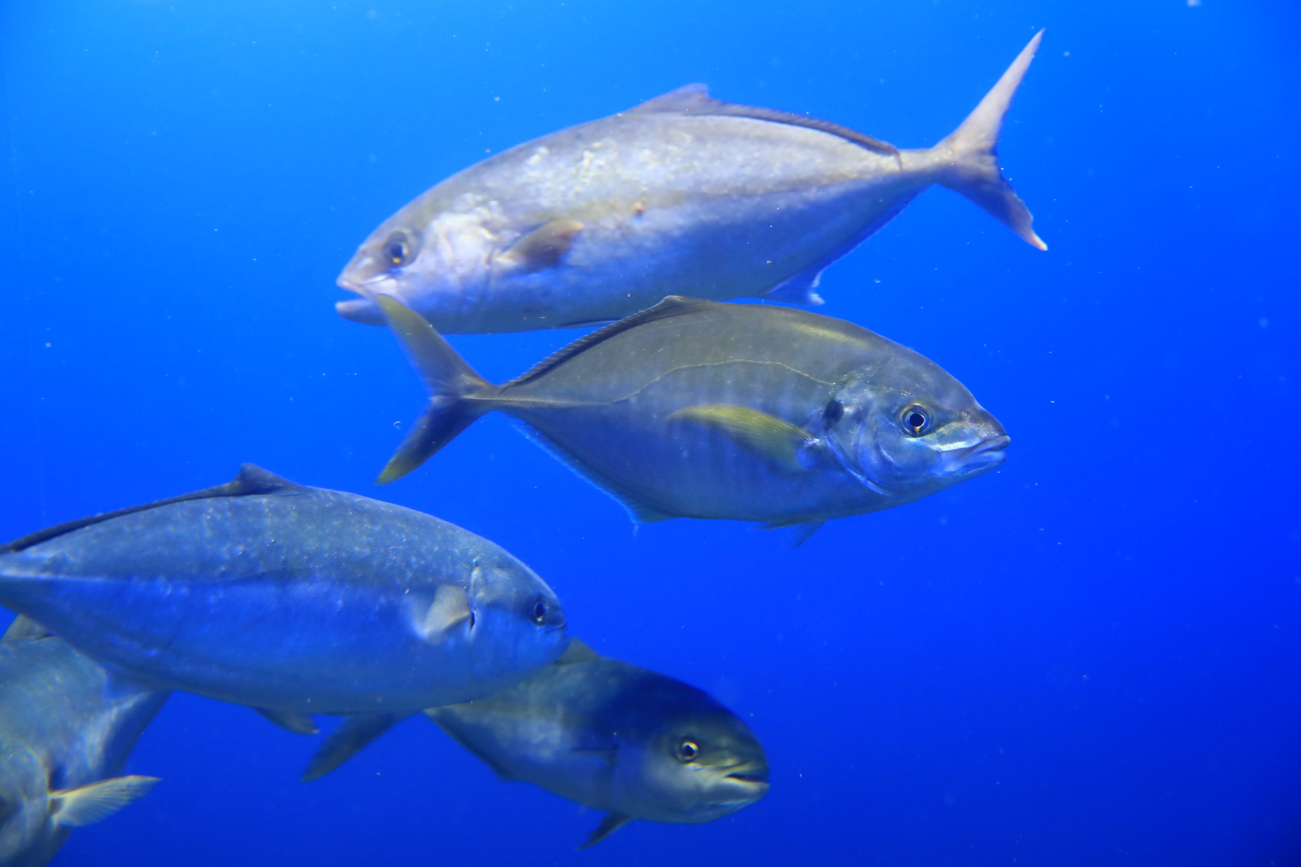
M 431 394 L 380 484 L 501 411 L 635 521 L 753 521 L 803 541 L 987 472 L 1011 442 L 934 361 L 799 308 L 670 296 L 498 386 L 401 302 L 379 303 Z

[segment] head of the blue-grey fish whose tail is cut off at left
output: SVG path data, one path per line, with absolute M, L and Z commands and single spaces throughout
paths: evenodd
M 470 653 L 480 682 L 515 682 L 556 662 L 569 646 L 565 608 L 532 569 L 480 558 L 470 577 Z

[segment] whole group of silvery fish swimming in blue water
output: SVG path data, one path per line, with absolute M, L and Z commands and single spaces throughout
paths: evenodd
M 941 185 L 1046 250 L 1002 175 L 1042 32 L 958 129 L 900 149 L 690 84 L 484 160 L 384 221 L 338 312 L 386 325 L 429 399 L 377 481 L 502 412 L 636 521 L 788 528 L 999 467 L 1007 432 L 950 373 L 820 304 L 824 270 Z M 600 325 L 515 380 L 442 334 Z M 794 556 L 794 555 L 792 555 Z M 755 732 L 706 693 L 571 640 L 557 594 L 433 516 L 252 465 L 226 484 L 0 546 L 0 867 L 150 792 L 124 775 L 172 690 L 302 734 L 315 780 L 423 714 L 502 780 L 627 823 L 761 799 Z

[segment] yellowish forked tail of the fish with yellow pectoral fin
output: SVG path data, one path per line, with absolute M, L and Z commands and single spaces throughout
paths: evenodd
M 389 295 L 376 295 L 389 329 L 429 390 L 429 406 L 376 478 L 386 485 L 428 460 L 492 406 L 474 398 L 496 394 L 492 385 L 433 330 L 419 313 Z

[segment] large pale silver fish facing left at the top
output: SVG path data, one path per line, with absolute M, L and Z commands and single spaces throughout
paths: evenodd
M 345 318 L 392 295 L 444 334 L 574 328 L 666 295 L 816 305 L 822 272 L 933 185 L 1046 250 L 998 162 L 1036 35 L 930 148 L 735 105 L 688 84 L 544 135 L 442 181 L 385 220 L 338 277 Z

